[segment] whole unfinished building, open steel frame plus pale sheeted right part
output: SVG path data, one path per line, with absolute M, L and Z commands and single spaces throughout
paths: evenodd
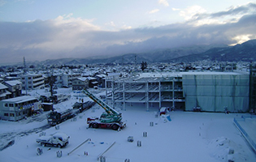
M 106 78 L 106 102 L 114 108 L 162 107 L 185 111 L 248 112 L 249 74 L 238 72 L 142 73 Z

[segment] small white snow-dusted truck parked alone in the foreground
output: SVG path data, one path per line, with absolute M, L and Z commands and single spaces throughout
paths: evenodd
M 41 136 L 38 139 L 36 139 L 36 142 L 40 143 L 43 147 L 53 146 L 62 148 L 67 146 L 67 144 L 69 143 L 69 138 L 70 137 L 63 132 L 56 132 L 54 134 Z

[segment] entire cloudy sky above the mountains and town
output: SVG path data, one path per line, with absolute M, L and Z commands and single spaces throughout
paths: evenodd
M 0 0 L 0 65 L 256 39 L 256 1 Z

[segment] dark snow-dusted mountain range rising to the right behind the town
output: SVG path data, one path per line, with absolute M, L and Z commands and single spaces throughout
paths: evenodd
M 234 46 L 193 45 L 174 49 L 158 49 L 145 53 L 126 53 L 115 57 L 61 58 L 37 63 L 44 65 L 76 65 L 95 63 L 196 62 L 202 60 L 254 62 L 256 61 L 256 40 L 248 40 L 243 44 Z

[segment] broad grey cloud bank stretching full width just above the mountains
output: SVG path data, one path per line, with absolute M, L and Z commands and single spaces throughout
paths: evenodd
M 246 8 L 250 9 L 246 12 Z M 24 56 L 27 61 L 42 61 L 140 53 L 187 45 L 232 45 L 256 38 L 253 8 L 254 4 L 247 4 L 224 12 L 207 13 L 200 6 L 193 6 L 181 13 L 188 17 L 184 23 L 156 28 L 132 28 L 124 24 L 124 29 L 119 31 L 102 30 L 93 24 L 94 19 L 73 18 L 72 14 L 44 21 L 0 22 L 0 63 L 22 62 Z M 193 16 L 189 17 L 189 13 Z M 224 21 L 223 16 L 238 18 Z M 207 19 L 211 22 L 206 23 Z

